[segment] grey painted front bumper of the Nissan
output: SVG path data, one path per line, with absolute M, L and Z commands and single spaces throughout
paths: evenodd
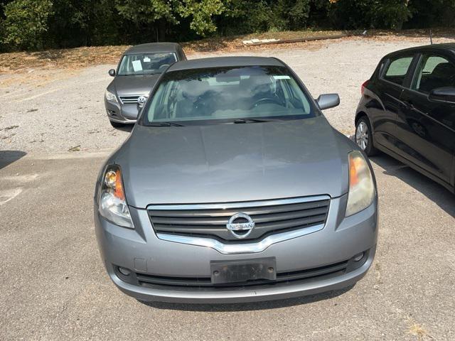
M 375 256 L 378 238 L 377 201 L 351 217 L 344 217 L 346 195 L 331 199 L 323 229 L 296 237 L 253 254 L 221 254 L 210 247 L 159 239 L 146 210 L 130 207 L 135 229 L 118 227 L 100 217 L 95 204 L 95 230 L 107 272 L 124 293 L 142 301 L 178 303 L 240 303 L 313 295 L 351 286 L 365 276 Z M 258 286 L 156 286 L 122 280 L 117 266 L 138 274 L 177 278 L 210 278 L 210 261 L 232 261 L 275 257 L 277 273 L 320 269 L 366 256 L 346 271 L 299 281 L 262 283 Z

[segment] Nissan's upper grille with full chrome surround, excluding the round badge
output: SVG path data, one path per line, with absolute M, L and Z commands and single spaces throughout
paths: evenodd
M 148 205 L 146 209 L 159 239 L 235 254 L 260 252 L 271 244 L 323 229 L 330 199 L 328 195 L 315 195 L 249 202 Z M 242 242 L 226 227 L 230 217 L 239 212 L 255 221 L 255 229 Z

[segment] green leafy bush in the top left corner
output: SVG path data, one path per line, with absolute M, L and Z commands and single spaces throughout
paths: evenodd
M 50 0 L 15 0 L 4 6 L 2 42 L 11 48 L 43 48 L 52 14 Z

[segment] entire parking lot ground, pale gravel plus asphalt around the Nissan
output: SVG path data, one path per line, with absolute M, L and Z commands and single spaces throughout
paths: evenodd
M 281 58 L 315 97 L 339 92 L 341 106 L 326 116 L 349 134 L 380 57 L 421 43 L 246 54 Z M 378 251 L 352 288 L 235 305 L 144 304 L 118 291 L 92 222 L 97 172 L 129 134 L 105 116 L 111 66 L 0 75 L 0 340 L 455 340 L 455 196 L 384 155 L 372 159 Z

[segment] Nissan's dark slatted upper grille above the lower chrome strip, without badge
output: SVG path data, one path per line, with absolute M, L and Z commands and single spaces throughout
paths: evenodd
M 207 205 L 153 205 L 149 217 L 156 233 L 209 237 L 221 242 L 251 242 L 270 234 L 325 224 L 330 199 L 326 196 L 286 200 Z M 255 222 L 252 232 L 237 239 L 226 224 L 245 213 Z

